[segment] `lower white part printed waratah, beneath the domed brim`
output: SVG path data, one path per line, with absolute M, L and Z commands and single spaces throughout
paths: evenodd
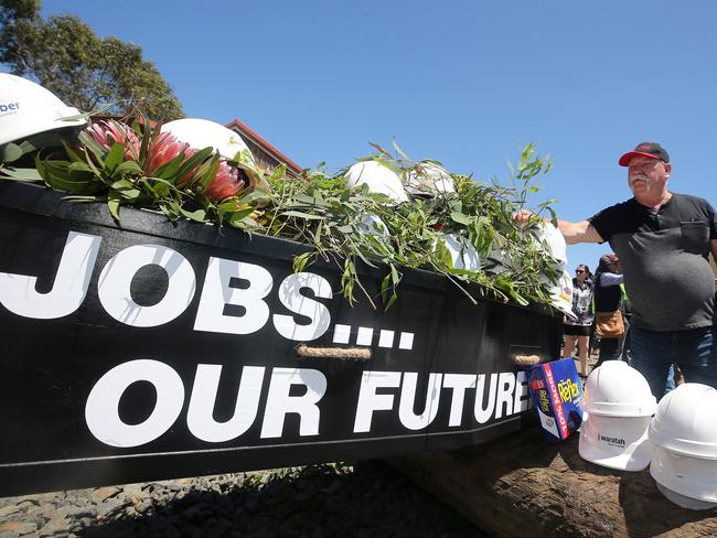
M 642 471 L 650 465 L 653 451 L 649 424 L 650 417 L 584 415 L 578 453 L 603 467 Z

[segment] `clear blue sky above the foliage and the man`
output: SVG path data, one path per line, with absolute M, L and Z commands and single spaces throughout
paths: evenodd
M 560 218 L 631 197 L 619 157 L 657 141 L 671 190 L 717 205 L 717 2 L 43 0 L 142 47 L 188 117 L 240 119 L 302 168 L 392 140 L 509 182 L 535 142 Z M 609 245 L 568 247 L 592 270 Z

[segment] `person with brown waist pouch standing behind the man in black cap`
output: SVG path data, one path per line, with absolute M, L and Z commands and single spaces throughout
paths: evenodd
M 618 310 L 622 314 L 622 275 L 620 275 L 618 257 L 614 254 L 606 254 L 600 257 L 598 269 L 595 275 L 595 311 L 611 313 Z M 624 321 L 623 321 L 624 324 Z M 624 332 L 619 336 L 600 337 L 600 356 L 595 365 L 597 368 L 604 361 L 617 361 L 620 358 L 620 344 L 624 340 Z

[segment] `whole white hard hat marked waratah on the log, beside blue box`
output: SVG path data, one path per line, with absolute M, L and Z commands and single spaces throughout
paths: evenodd
M 621 361 L 602 363 L 588 376 L 580 407 L 578 453 L 584 460 L 622 471 L 650 464 L 654 446 L 648 428 L 656 401 L 642 374 Z

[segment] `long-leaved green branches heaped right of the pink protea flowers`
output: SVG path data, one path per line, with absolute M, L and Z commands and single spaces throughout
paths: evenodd
M 397 146 L 394 157 L 377 144 L 376 160 L 402 176 L 421 173 L 421 164 L 406 158 Z M 435 162 L 435 161 L 434 161 Z M 549 303 L 548 282 L 559 271 L 546 250 L 512 215 L 527 195 L 536 192 L 532 182 L 549 171 L 547 159 L 528 146 L 518 161 L 512 189 L 488 185 L 469 176 L 451 174 L 457 192 L 396 205 L 386 196 L 372 194 L 365 186 L 349 189 L 343 171 L 336 176 L 321 169 L 304 171 L 297 181 L 282 175 L 270 179 L 271 200 L 259 224 L 263 233 L 313 245 L 314 252 L 295 260 L 303 270 L 321 257 L 333 261 L 342 273 L 342 289 L 350 303 L 360 291 L 376 308 L 381 299 L 387 309 L 397 298 L 405 268 L 427 268 L 453 281 L 470 300 L 479 295 L 518 304 Z M 549 203 L 541 204 L 549 211 Z M 446 234 L 465 238 L 484 260 L 481 270 L 453 267 Z M 361 263 L 376 267 L 382 261 L 388 273 L 382 281 L 379 298 L 372 297 L 361 281 Z M 541 279 L 544 275 L 547 279 Z M 477 288 L 464 286 L 475 283 Z

